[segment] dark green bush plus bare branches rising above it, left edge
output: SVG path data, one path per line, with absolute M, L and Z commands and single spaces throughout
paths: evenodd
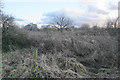
M 27 38 L 27 33 L 16 25 L 14 18 L 5 14 L 2 14 L 1 18 L 2 52 L 28 47 L 30 41 Z

